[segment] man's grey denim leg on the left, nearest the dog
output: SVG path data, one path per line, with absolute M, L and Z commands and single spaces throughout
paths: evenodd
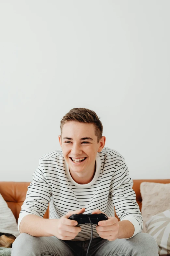
M 21 233 L 13 242 L 11 256 L 74 256 L 73 250 L 55 236 Z

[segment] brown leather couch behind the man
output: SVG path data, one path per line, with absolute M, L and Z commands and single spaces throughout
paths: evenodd
M 141 210 L 142 207 L 142 198 L 140 194 L 140 183 L 141 182 L 158 182 L 158 183 L 170 183 L 170 179 L 136 179 L 134 180 L 133 189 L 136 194 L 136 201 Z M 13 212 L 16 221 L 18 222 L 19 213 L 21 211 L 21 205 L 25 200 L 27 193 L 27 188 L 30 185 L 30 182 L 10 182 L 10 181 L 1 181 L 0 182 L 0 193 L 7 202 L 8 207 Z M 117 217 L 116 213 L 115 216 Z M 49 218 L 49 206 L 44 214 L 43 218 Z M 118 218 L 118 217 L 117 217 Z M 119 218 L 118 218 L 119 220 Z

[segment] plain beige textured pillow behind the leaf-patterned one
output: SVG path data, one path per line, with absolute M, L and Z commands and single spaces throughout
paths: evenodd
M 140 184 L 142 196 L 143 233 L 146 233 L 146 222 L 158 213 L 170 208 L 170 183 L 142 182 Z

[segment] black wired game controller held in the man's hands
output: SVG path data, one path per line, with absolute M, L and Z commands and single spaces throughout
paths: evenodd
M 91 222 L 90 222 L 90 220 Z M 100 214 L 73 214 L 68 219 L 70 220 L 76 220 L 79 224 L 96 224 L 98 225 L 98 222 L 101 220 L 108 220 L 107 216 L 104 213 Z

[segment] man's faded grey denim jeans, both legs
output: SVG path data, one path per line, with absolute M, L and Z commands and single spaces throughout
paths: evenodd
M 89 242 L 21 233 L 12 244 L 11 256 L 86 256 Z M 88 256 L 159 256 L 158 251 L 159 247 L 151 235 L 138 233 L 132 238 L 114 241 L 94 238 Z

